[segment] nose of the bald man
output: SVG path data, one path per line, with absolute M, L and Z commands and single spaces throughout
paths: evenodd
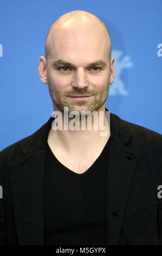
M 87 76 L 84 70 L 77 70 L 73 77 L 72 86 L 78 89 L 83 89 L 88 87 Z

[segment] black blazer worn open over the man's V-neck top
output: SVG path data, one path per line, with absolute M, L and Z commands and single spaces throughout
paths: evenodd
M 44 156 L 52 120 L 0 153 L 0 244 L 43 245 Z M 107 245 L 162 245 L 162 135 L 112 113 L 110 127 Z

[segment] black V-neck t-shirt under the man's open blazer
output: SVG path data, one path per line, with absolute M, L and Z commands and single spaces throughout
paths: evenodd
M 47 143 L 44 245 L 106 245 L 110 144 L 111 137 L 92 166 L 77 174 L 56 159 Z

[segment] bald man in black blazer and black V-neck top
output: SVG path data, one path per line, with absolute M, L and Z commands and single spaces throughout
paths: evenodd
M 1 244 L 162 245 L 162 136 L 112 113 L 107 122 L 113 63 L 98 17 L 71 11 L 49 29 L 39 75 L 64 125 L 51 117 L 1 151 Z M 65 129 L 88 111 L 103 114 L 106 136 L 96 115 L 98 129 Z

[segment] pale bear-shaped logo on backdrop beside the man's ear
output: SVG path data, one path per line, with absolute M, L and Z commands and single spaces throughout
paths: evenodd
M 109 86 L 109 95 L 128 95 L 128 90 L 125 89 L 125 83 L 121 80 L 121 73 L 123 69 L 131 68 L 133 62 L 130 56 L 126 55 L 121 58 L 123 51 L 113 50 L 112 57 L 114 57 L 115 76 L 114 82 Z

